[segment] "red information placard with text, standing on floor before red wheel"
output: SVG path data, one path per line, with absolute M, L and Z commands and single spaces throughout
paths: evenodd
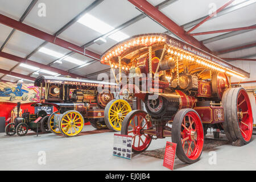
M 166 152 L 164 153 L 163 166 L 171 170 L 174 170 L 176 147 L 176 143 L 166 142 Z

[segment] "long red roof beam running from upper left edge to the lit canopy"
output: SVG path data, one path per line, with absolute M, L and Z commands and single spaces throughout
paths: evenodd
M 46 32 L 40 31 L 34 27 L 28 26 L 27 24 L 18 22 L 17 20 L 11 19 L 5 15 L 0 14 L 0 23 L 5 24 L 6 26 L 15 28 L 16 30 L 22 31 L 26 34 L 30 34 L 39 39 L 46 40 L 49 43 L 56 44 L 57 46 L 69 49 L 73 52 L 80 53 L 81 55 L 91 57 L 100 61 L 100 55 L 84 48 L 77 46 L 75 44 L 69 43 L 63 39 L 57 38 L 54 35 L 48 34 Z

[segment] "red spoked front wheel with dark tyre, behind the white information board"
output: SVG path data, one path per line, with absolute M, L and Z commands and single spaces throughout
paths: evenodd
M 145 134 L 144 130 L 150 129 L 152 123 L 146 115 L 147 113 L 143 110 L 133 110 L 123 119 L 121 134 L 133 137 L 133 152 L 143 152 L 150 146 L 151 135 Z

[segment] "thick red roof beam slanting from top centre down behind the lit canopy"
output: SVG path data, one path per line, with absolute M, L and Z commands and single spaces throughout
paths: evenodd
M 161 24 L 167 30 L 170 30 L 175 35 L 179 36 L 179 38 L 183 39 L 185 42 L 196 46 L 197 48 L 203 49 L 204 51 L 211 52 L 207 47 L 205 47 L 201 42 L 196 40 L 190 35 L 187 35 L 186 32 L 181 28 L 178 24 L 173 22 L 170 18 L 164 15 L 161 11 L 156 9 L 146 0 L 128 0 L 133 3 L 139 10 L 143 11 L 150 18 L 154 19 L 156 22 Z

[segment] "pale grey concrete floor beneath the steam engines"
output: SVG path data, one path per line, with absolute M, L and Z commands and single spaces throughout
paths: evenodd
M 85 126 L 84 131 L 94 130 Z M 0 133 L 0 170 L 160 170 L 163 160 L 151 156 L 133 154 L 131 160 L 112 155 L 113 132 L 64 138 L 55 134 L 6 137 Z M 222 138 L 225 138 L 222 135 Z M 152 140 L 148 150 L 162 148 L 167 139 Z M 38 154 L 44 151 L 46 164 L 39 164 Z M 210 151 L 215 151 L 217 164 L 210 165 Z M 199 162 L 185 164 L 175 159 L 175 170 L 255 170 L 256 140 L 242 147 L 219 146 L 203 151 Z

